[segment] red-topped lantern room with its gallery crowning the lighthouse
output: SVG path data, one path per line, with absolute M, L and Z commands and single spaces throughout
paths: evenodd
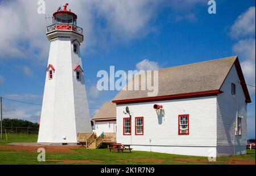
M 52 17 L 52 25 L 47 27 L 47 37 L 51 40 L 53 37 L 56 37 L 56 33 L 68 33 L 72 32 L 76 36 L 76 39 L 81 43 L 84 39 L 82 28 L 77 26 L 77 15 L 71 10 L 67 10 L 68 3 L 63 7 L 64 9 L 59 8 Z

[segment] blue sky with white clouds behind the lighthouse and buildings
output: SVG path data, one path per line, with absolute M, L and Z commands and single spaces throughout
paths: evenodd
M 97 91 L 99 70 L 165 68 L 238 55 L 246 82 L 255 86 L 255 1 L 67 1 L 85 30 L 82 62 L 91 116 L 117 91 Z M 0 1 L 0 95 L 42 103 L 49 41 L 45 17 L 66 1 Z M 253 17 L 254 16 L 254 17 Z M 3 24 L 10 28 L 3 28 Z M 254 26 L 254 27 L 253 27 Z M 141 64 L 140 64 L 141 63 Z M 255 87 L 249 87 L 248 136 L 255 137 Z M 40 106 L 4 100 L 4 118 L 38 121 Z

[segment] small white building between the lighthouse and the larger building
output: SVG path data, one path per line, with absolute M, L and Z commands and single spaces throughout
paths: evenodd
M 94 132 L 97 136 L 104 133 L 115 133 L 117 130 L 116 106 L 112 102 L 105 103 L 92 118 Z

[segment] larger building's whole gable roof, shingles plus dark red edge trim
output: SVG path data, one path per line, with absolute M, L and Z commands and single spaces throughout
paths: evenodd
M 114 103 L 141 102 L 150 100 L 163 100 L 178 97 L 209 96 L 221 93 L 220 88 L 225 81 L 233 65 L 236 65 L 237 73 L 243 82 L 243 91 L 246 101 L 250 102 L 250 96 L 243 78 L 241 66 L 237 56 L 210 60 L 195 64 L 175 66 L 158 70 L 158 96 L 148 97 L 148 90 L 122 90 L 114 98 Z M 139 77 L 133 77 L 130 83 L 134 83 Z M 152 82 L 154 82 L 152 80 Z

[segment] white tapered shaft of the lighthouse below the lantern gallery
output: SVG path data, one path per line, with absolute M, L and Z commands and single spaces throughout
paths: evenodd
M 86 98 L 84 73 L 76 79 L 80 53 L 73 53 L 71 40 L 51 41 L 48 64 L 55 68 L 53 78 L 46 73 L 38 143 L 77 143 L 77 133 L 92 132 Z

